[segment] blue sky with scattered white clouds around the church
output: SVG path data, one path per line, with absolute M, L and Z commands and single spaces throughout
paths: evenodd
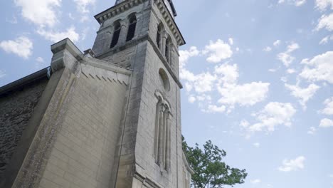
M 1 1 L 0 85 L 93 46 L 105 0 Z M 240 188 L 333 187 L 333 1 L 174 0 L 183 134 L 245 168 Z

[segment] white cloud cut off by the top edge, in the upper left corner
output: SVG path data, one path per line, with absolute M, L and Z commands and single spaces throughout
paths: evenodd
M 38 26 L 54 26 L 58 22 L 58 12 L 61 0 L 14 0 L 21 7 L 24 19 Z

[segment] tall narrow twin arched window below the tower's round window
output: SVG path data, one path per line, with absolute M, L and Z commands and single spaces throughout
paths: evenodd
M 169 171 L 171 152 L 171 112 L 169 104 L 159 93 L 156 106 L 155 132 L 154 132 L 154 158 L 161 169 Z

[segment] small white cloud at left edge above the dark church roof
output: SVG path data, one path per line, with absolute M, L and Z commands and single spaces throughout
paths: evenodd
M 15 41 L 1 41 L 0 48 L 6 53 L 14 53 L 21 58 L 28 59 L 33 50 L 33 42 L 26 36 L 20 36 Z

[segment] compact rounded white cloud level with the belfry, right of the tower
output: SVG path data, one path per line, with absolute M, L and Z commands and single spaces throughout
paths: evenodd
M 218 63 L 227 58 L 231 58 L 233 51 L 228 43 L 224 43 L 221 39 L 218 39 L 215 43 L 209 42 L 209 45 L 205 47 L 203 54 L 208 54 L 206 59 L 210 63 Z

